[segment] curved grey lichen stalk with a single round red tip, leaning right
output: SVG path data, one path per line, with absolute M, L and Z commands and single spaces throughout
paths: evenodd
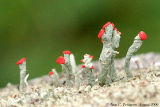
M 135 52 L 138 51 L 138 49 L 141 47 L 143 40 L 147 39 L 146 34 L 141 31 L 134 39 L 133 44 L 131 47 L 128 49 L 126 58 L 125 58 L 125 72 L 128 78 L 132 78 L 132 72 L 129 70 L 129 65 L 130 65 L 130 59 L 133 56 Z

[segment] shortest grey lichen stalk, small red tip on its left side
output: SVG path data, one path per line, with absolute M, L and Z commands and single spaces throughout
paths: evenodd
M 49 72 L 49 77 L 52 78 L 54 86 L 58 87 L 61 85 L 59 75 L 58 75 L 56 69 L 52 69 L 52 71 Z

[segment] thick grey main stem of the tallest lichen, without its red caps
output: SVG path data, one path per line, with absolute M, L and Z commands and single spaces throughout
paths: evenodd
M 109 72 L 111 72 L 111 67 L 113 67 L 112 69 L 114 70 L 114 66 L 112 66 L 112 64 L 114 63 L 113 58 L 118 53 L 112 48 L 113 32 L 114 26 L 112 24 L 109 24 L 105 27 L 105 32 L 101 37 L 101 39 L 103 40 L 103 49 L 99 58 L 101 64 L 101 72 L 98 76 L 99 85 L 101 86 L 105 84 L 109 85 L 112 82 L 112 77 L 110 77 L 112 76 L 112 73 L 110 73 L 109 75 Z

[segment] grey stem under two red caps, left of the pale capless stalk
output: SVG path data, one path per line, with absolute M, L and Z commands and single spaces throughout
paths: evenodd
M 63 70 L 66 74 L 66 84 L 67 86 L 72 86 L 74 82 L 74 75 L 72 73 L 72 65 L 70 62 L 70 55 L 64 54 L 65 64 L 62 64 Z

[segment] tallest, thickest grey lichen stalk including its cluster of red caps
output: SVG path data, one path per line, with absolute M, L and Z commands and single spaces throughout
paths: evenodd
M 113 60 L 116 54 L 119 54 L 114 49 L 119 47 L 120 34 L 111 22 L 106 23 L 98 34 L 98 38 L 103 42 L 103 49 L 99 58 L 101 72 L 98 76 L 99 85 L 101 86 L 109 85 L 116 80 Z

